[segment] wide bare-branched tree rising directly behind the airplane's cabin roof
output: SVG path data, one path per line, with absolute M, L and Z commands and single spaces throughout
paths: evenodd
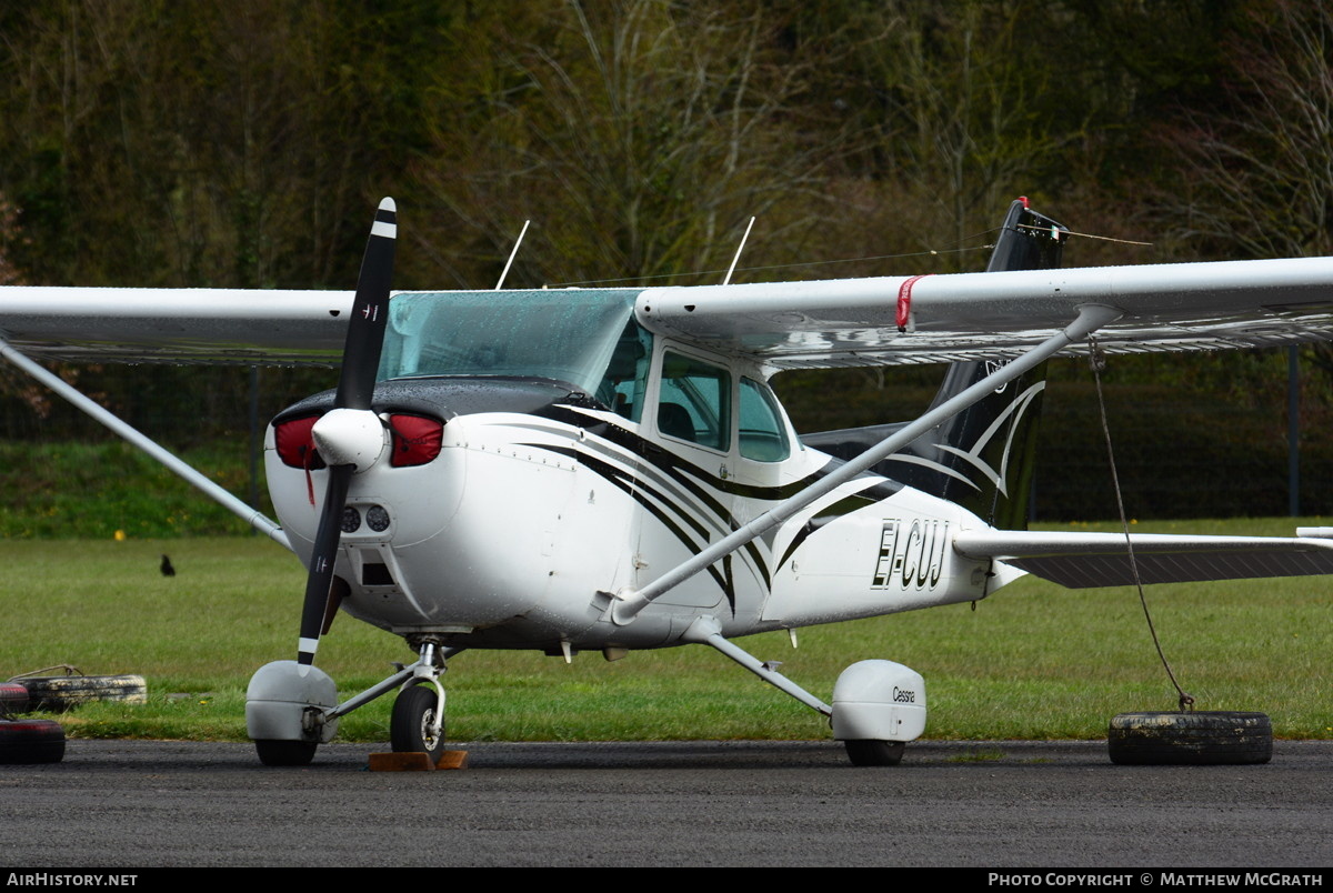
M 781 255 L 816 224 L 841 148 L 836 128 L 809 127 L 808 67 L 774 29 L 760 7 L 623 0 L 593 16 L 569 0 L 496 35 L 463 103 L 485 109 L 479 128 L 445 117 L 419 167 L 452 228 L 481 233 L 469 273 L 441 268 L 493 275 L 525 217 L 516 283 L 725 268 L 752 215 L 748 260 Z

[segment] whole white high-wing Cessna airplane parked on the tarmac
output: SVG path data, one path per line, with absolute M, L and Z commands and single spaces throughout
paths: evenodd
M 1017 201 L 988 272 L 693 288 L 397 293 L 381 203 L 355 293 L 0 289 L 0 353 L 172 465 L 309 570 L 296 660 L 256 672 L 265 764 L 304 765 L 397 689 L 395 750 L 444 745 L 445 661 L 706 644 L 814 710 L 858 765 L 925 726 L 921 677 L 861 661 L 825 704 L 734 644 L 973 601 L 1024 573 L 1132 582 L 1125 537 L 1025 532 L 1042 363 L 1333 336 L 1333 259 L 1058 269 L 1065 231 Z M 336 363 L 273 419 L 281 521 L 29 357 Z M 792 429 L 782 369 L 953 364 L 901 425 Z M 1333 532 L 1133 536 L 1144 582 L 1333 573 Z M 315 666 L 337 609 L 419 658 L 340 702 Z

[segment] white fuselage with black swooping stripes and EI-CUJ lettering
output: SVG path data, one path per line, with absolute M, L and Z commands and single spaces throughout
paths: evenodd
M 616 625 L 617 592 L 841 462 L 801 445 L 760 369 L 653 336 L 628 315 L 603 329 L 607 344 L 587 351 L 593 369 L 577 381 L 496 369 L 488 355 L 491 368 L 412 368 L 377 385 L 384 453 L 352 476 L 336 564 L 344 610 L 468 648 L 636 649 L 680 644 L 700 616 L 734 637 L 996 588 L 986 562 L 950 545 L 982 521 L 864 474 Z M 331 407 L 328 393 L 292 407 L 267 440 L 273 504 L 307 562 L 327 470 L 301 427 Z

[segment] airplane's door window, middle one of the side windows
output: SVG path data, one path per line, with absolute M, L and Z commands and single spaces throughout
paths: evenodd
M 663 355 L 657 431 L 721 452 L 730 448 L 730 373 L 670 351 Z

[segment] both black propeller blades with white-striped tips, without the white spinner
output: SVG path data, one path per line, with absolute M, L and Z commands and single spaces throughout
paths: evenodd
M 384 327 L 388 321 L 389 281 L 393 277 L 396 237 L 396 207 L 393 199 L 384 199 L 375 213 L 371 239 L 365 244 L 365 256 L 361 260 L 356 300 L 352 303 L 352 319 L 343 348 L 343 372 L 339 377 L 337 396 L 333 400 L 335 411 L 371 411 L 375 376 L 380 367 L 380 349 L 384 347 Z M 307 665 L 315 662 L 315 652 L 320 644 L 329 590 L 333 585 L 333 562 L 337 558 L 337 545 L 341 537 L 343 508 L 347 502 L 352 473 L 356 470 L 356 466 L 351 464 L 333 464 L 329 457 L 325 457 L 325 461 L 329 462 L 329 481 L 324 490 L 324 510 L 320 514 L 319 530 L 315 534 L 315 550 L 311 554 L 311 569 L 305 578 L 301 636 L 297 642 L 296 660 L 299 664 Z

